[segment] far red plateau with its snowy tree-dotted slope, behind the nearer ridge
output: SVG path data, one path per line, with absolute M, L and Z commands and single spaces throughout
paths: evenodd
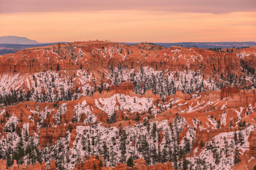
M 67 101 L 125 81 L 134 84 L 136 94 L 152 90 L 161 98 L 176 91 L 218 90 L 225 84 L 255 88 L 254 50 L 223 53 L 102 41 L 25 49 L 0 57 L 0 98 L 5 105 L 10 95 L 22 95 L 18 101 Z

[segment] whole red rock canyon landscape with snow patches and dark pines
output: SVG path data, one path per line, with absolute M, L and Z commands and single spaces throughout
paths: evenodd
M 0 56 L 0 169 L 253 169 L 254 49 L 93 41 Z

